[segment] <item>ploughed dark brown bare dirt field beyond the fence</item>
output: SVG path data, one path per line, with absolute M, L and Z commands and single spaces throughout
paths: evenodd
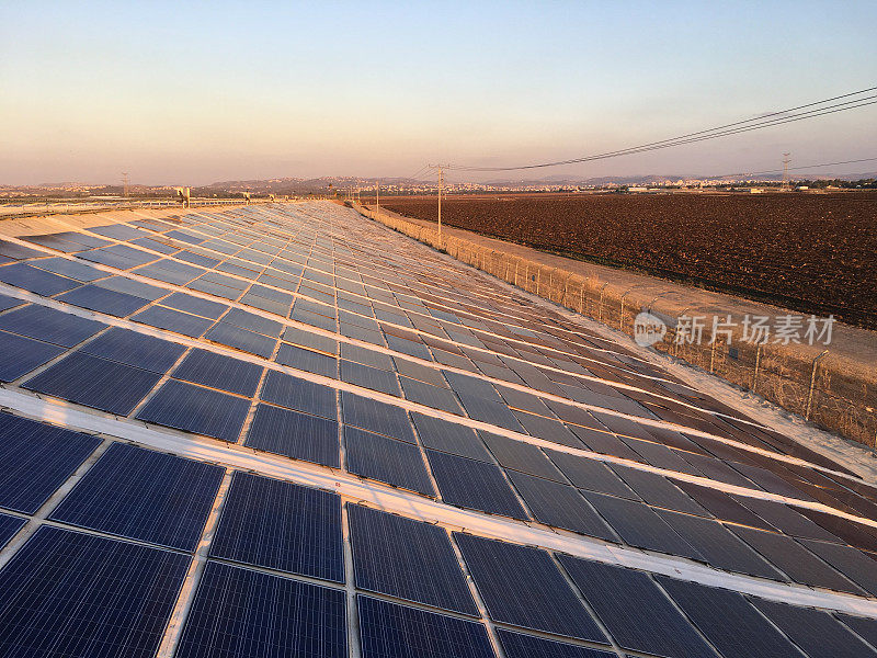
M 437 220 L 434 196 L 381 198 Z M 877 329 L 877 193 L 449 196 L 448 226 Z

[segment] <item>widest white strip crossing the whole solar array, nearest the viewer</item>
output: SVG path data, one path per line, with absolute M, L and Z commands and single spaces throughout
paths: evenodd
M 220 441 L 164 432 L 148 428 L 135 420 L 87 412 L 62 401 L 39 399 L 21 392 L 0 389 L 0 406 L 67 428 L 100 432 L 181 456 L 331 490 L 350 501 L 366 502 L 403 517 L 437 523 L 483 537 L 559 551 L 577 557 L 722 587 L 773 601 L 877 617 L 877 601 L 873 599 L 729 574 L 681 558 L 652 555 L 624 546 L 611 546 L 580 535 L 561 534 L 511 519 L 462 510 L 326 466 L 295 462 L 236 444 L 223 444 Z

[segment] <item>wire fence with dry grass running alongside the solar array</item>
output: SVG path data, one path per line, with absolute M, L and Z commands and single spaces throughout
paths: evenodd
M 455 236 L 445 234 L 440 238 L 436 228 L 398 216 L 380 213 L 375 217 L 371 211 L 357 209 L 462 262 L 629 336 L 634 334 L 635 317 L 643 310 L 643 302 L 636 302 L 633 288 L 618 293 L 596 279 L 488 249 Z M 731 345 L 727 339 L 706 345 L 676 342 L 673 327 L 663 341 L 652 347 L 756 393 L 823 429 L 877 447 L 877 383 L 874 377 L 850 372 L 830 353 L 808 359 L 782 344 L 738 342 Z

